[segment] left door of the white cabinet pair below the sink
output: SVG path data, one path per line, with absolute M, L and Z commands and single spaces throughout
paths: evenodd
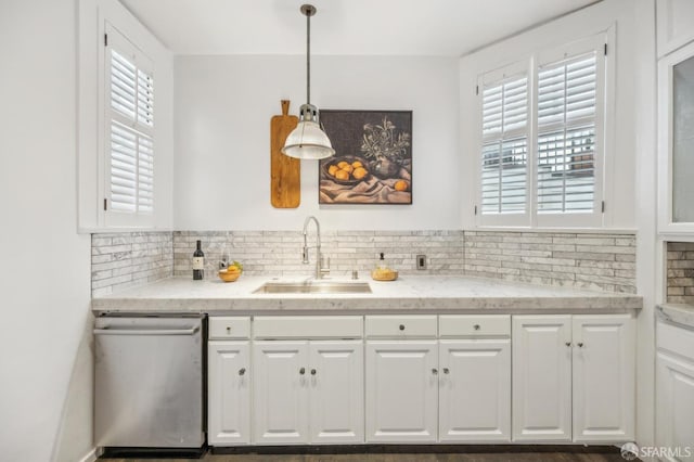
M 309 442 L 308 342 L 255 342 L 253 364 L 254 442 Z

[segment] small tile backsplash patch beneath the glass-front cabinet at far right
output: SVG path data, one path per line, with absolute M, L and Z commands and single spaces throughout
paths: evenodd
M 667 300 L 694 304 L 694 242 L 667 243 Z

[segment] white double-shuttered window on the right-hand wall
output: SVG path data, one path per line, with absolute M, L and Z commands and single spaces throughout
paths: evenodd
M 604 43 L 593 37 L 480 76 L 479 224 L 601 224 Z

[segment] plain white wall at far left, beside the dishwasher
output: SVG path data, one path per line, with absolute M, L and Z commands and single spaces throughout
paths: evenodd
M 90 238 L 76 232 L 75 17 L 74 0 L 0 3 L 3 461 L 91 449 L 91 415 L 63 419 L 91 406 L 91 365 L 75 368 L 90 317 Z M 75 389 L 87 393 L 67 407 Z

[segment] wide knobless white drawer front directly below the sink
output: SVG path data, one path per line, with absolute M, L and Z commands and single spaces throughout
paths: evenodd
M 254 338 L 361 338 L 360 316 L 259 316 L 253 320 Z

